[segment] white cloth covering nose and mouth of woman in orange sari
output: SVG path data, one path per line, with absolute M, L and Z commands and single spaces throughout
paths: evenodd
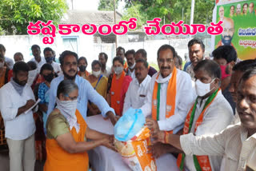
M 56 103 L 56 108 L 58 108 L 65 117 L 75 117 L 75 110 L 77 109 L 78 100 L 60 101 L 58 97 L 56 97 Z

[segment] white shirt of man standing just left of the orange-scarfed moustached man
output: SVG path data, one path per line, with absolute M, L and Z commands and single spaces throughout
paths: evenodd
M 147 89 L 150 85 L 150 81 L 151 77 L 147 75 L 141 84 L 138 83 L 137 78 L 134 78 L 133 81 L 130 82 L 129 88 L 126 92 L 122 113 L 125 113 L 130 107 L 138 109 L 145 104 Z

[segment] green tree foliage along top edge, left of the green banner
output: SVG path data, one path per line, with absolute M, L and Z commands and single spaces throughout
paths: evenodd
M 215 0 L 196 0 L 194 6 L 194 23 L 206 24 L 211 22 Z M 141 0 L 126 1 L 126 11 L 122 19 L 137 18 L 143 24 L 154 18 L 161 18 L 162 23 L 182 20 L 190 24 L 191 1 L 187 0 Z M 142 26 L 138 23 L 138 26 Z

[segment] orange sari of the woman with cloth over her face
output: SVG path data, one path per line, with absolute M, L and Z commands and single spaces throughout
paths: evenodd
M 80 126 L 79 133 L 73 127 L 70 133 L 74 137 L 74 141 L 85 141 L 86 135 L 86 121 L 83 119 L 78 109 L 75 112 Z M 85 171 L 89 169 L 89 157 L 84 153 L 67 153 L 62 147 L 58 145 L 55 139 L 46 139 L 46 164 L 44 171 Z

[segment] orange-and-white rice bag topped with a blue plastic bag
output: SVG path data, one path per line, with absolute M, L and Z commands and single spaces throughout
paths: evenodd
M 114 125 L 114 145 L 122 160 L 134 171 L 157 170 L 150 145 L 150 129 L 141 109 L 128 109 Z

